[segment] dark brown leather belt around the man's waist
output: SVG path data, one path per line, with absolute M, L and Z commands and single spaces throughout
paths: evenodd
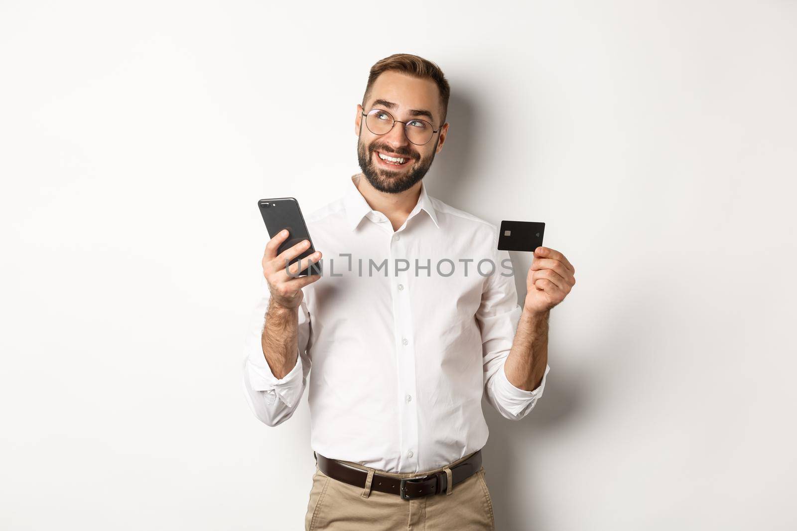
M 351 467 L 337 459 L 328 459 L 323 455 L 312 452 L 316 456 L 318 468 L 332 479 L 337 479 L 349 485 L 365 488 L 368 471 Z M 465 481 L 481 468 L 481 450 L 476 451 L 465 461 L 457 463 L 451 468 L 452 484 L 456 485 Z M 433 474 L 422 474 L 414 478 L 394 478 L 374 472 L 371 479 L 371 490 L 398 494 L 404 500 L 422 498 L 429 494 L 442 494 L 448 488 L 448 474 L 446 470 L 439 470 Z

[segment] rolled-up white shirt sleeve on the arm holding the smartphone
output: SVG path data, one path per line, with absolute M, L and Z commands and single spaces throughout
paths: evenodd
M 261 278 L 261 295 L 255 306 L 245 339 L 243 388 L 249 408 L 259 420 L 277 426 L 288 420 L 299 405 L 306 386 L 311 361 L 306 352 L 310 333 L 310 315 L 304 301 L 299 308 L 298 353 L 296 365 L 283 378 L 274 376 L 265 360 L 261 337 L 265 312 L 269 306 L 269 287 Z

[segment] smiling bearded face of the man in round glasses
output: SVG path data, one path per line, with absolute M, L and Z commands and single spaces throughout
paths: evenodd
M 381 192 L 398 193 L 410 189 L 420 181 L 432 166 L 437 154 L 446 140 L 448 124 L 441 127 L 442 109 L 440 108 L 440 92 L 431 80 L 418 80 L 400 72 L 383 72 L 371 87 L 371 94 L 363 110 L 357 105 L 355 133 L 357 141 L 357 158 L 363 175 L 375 189 Z M 404 124 L 396 122 L 391 131 L 384 135 L 375 135 L 368 130 L 365 116 L 368 111 L 379 108 L 391 113 L 394 119 L 410 122 L 423 119 L 432 124 L 434 133 L 430 141 L 422 146 L 410 143 L 406 138 Z M 430 115 L 418 114 L 427 111 Z M 404 158 L 402 164 L 387 162 L 379 154 Z

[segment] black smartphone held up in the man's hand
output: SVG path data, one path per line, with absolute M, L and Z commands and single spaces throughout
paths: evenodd
M 302 240 L 310 240 L 310 247 L 296 256 L 288 265 L 294 264 L 303 258 L 307 258 L 316 252 L 312 245 L 310 232 L 304 224 L 304 216 L 301 215 L 299 201 L 295 197 L 278 197 L 277 199 L 261 199 L 257 201 L 257 208 L 260 209 L 261 216 L 265 222 L 265 228 L 269 231 L 269 238 L 277 236 L 283 229 L 288 229 L 288 239 L 282 242 L 277 249 L 277 255 L 285 249 L 292 248 Z M 299 273 L 299 276 L 320 275 L 321 263 L 316 262 Z

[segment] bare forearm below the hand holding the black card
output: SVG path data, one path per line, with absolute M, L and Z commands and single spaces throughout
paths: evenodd
M 525 391 L 540 386 L 548 365 L 548 318 L 551 310 L 533 314 L 524 308 L 504 365 L 509 383 Z

